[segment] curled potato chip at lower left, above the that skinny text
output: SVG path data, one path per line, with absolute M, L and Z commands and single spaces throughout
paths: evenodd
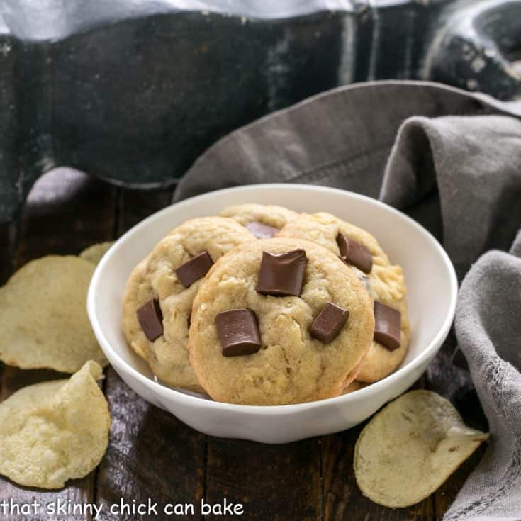
M 95 469 L 111 427 L 101 377 L 99 364 L 86 362 L 69 380 L 28 386 L 0 403 L 0 474 L 60 488 Z

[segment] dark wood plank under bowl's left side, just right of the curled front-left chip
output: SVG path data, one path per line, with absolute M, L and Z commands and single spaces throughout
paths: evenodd
M 170 191 L 122 191 L 118 235 L 167 206 L 171 198 Z M 205 437 L 136 396 L 113 370 L 107 374 L 106 396 L 113 425 L 97 481 L 97 500 L 103 508 L 99 519 L 114 519 L 110 508 L 120 498 L 130 505 L 133 500 L 146 503 L 151 498 L 158 510 L 157 516 L 150 517 L 125 511 L 117 516 L 119 520 L 171 519 L 164 513 L 166 503 L 194 504 L 195 517 L 176 519 L 198 518 L 204 491 Z

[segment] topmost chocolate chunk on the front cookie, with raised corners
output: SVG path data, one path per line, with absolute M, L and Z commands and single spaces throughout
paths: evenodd
M 300 296 L 308 257 L 304 250 L 271 254 L 262 252 L 257 292 L 261 295 Z

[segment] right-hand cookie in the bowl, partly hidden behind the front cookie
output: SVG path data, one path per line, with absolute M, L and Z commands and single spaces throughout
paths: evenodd
M 340 255 L 339 234 L 362 245 L 369 250 L 370 256 L 364 256 L 366 250 L 356 251 L 357 266 L 349 264 L 353 271 L 366 285 L 373 301 L 382 303 L 400 312 L 400 346 L 388 346 L 374 341 L 366 354 L 357 379 L 366 383 L 381 380 L 391 374 L 403 361 L 410 339 L 410 325 L 407 313 L 405 279 L 400 266 L 393 265 L 376 239 L 366 230 L 336 218 L 328 213 L 301 214 L 280 230 L 277 237 L 296 237 L 313 240 L 335 255 Z M 358 248 L 360 250 L 360 248 Z M 369 264 L 368 264 L 369 262 Z M 363 270 L 368 270 L 365 272 Z

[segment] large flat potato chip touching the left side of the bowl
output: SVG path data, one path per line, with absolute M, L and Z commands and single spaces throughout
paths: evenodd
M 29 262 L 0 288 L 0 360 L 74 373 L 103 356 L 86 313 L 94 266 L 51 255 Z

